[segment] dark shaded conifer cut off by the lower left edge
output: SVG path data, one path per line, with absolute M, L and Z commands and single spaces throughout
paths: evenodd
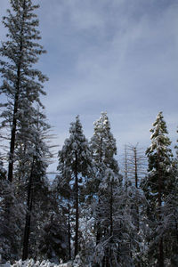
M 0 161 L 0 189 L 0 255 L 1 263 L 5 263 L 19 258 L 24 208 L 14 193 L 14 185 L 6 178 L 3 161 Z

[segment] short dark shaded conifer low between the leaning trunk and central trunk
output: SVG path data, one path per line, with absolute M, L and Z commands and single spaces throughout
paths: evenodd
M 36 258 L 60 263 L 68 260 L 68 225 L 59 194 L 50 187 L 47 202 L 44 203 L 44 220 L 40 225 Z M 44 208 L 43 208 L 44 210 Z M 47 214 L 46 214 L 47 212 Z

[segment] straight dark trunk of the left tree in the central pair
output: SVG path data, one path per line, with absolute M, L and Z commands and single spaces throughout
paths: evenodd
M 78 210 L 78 179 L 77 179 L 77 151 L 76 151 L 76 167 L 75 167 L 75 197 L 76 197 L 76 236 L 75 236 L 75 256 L 78 254 L 78 219 L 79 219 L 79 210 Z

